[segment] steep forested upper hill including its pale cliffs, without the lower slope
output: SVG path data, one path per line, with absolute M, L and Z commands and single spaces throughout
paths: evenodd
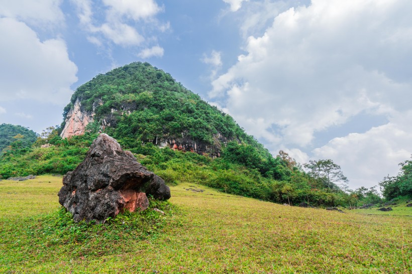
M 63 137 L 104 131 L 132 151 L 152 143 L 211 157 L 227 147 L 233 160 L 281 177 L 275 170 L 279 160 L 230 115 L 149 63 L 131 63 L 79 86 L 63 116 Z

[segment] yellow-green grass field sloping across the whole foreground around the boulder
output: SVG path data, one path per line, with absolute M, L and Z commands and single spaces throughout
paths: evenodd
M 60 187 L 52 176 L 0 181 L 0 272 L 412 272 L 412 208 L 343 214 L 180 184 L 153 204 L 165 215 L 87 225 L 60 209 Z

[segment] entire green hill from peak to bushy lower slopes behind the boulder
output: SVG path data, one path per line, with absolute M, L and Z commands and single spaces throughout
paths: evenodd
M 225 193 L 314 206 L 346 206 L 357 199 L 305 173 L 286 153 L 273 157 L 230 115 L 148 63 L 135 62 L 79 86 L 63 117 L 59 132 L 49 132 L 34 148 L 5 154 L 0 179 L 65 174 L 105 132 L 169 185 L 199 183 Z M 39 146 L 45 143 L 53 147 Z

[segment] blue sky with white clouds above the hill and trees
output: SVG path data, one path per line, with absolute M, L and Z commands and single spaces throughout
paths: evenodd
M 135 61 L 232 115 L 274 156 L 349 186 L 412 154 L 410 0 L 0 0 L 0 123 L 59 125 L 73 91 Z

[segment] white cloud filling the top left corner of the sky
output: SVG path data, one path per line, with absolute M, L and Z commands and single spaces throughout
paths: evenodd
M 62 0 L 0 0 L 0 16 L 51 27 L 64 22 L 61 3 Z

